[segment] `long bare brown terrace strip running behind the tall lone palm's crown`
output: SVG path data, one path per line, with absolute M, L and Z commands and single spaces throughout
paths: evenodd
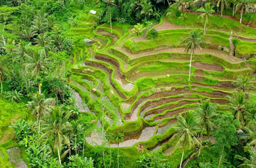
M 125 48 L 122 48 L 120 46 L 116 47 L 117 50 L 120 50 L 121 52 L 127 54 L 131 59 L 136 59 L 140 56 L 147 56 L 147 55 L 152 55 L 152 54 L 158 54 L 161 52 L 180 52 L 180 53 L 185 53 L 185 48 L 167 48 L 167 47 L 160 47 L 156 48 L 156 50 L 152 51 L 147 51 L 147 52 L 140 52 L 137 54 L 131 54 Z M 222 59 L 226 59 L 226 61 L 229 61 L 231 63 L 239 63 L 242 62 L 241 59 L 238 59 L 234 56 L 229 56 L 229 54 L 226 54 L 225 52 L 219 51 L 219 50 L 212 50 L 212 49 L 206 49 L 203 48 L 202 50 L 196 50 L 194 54 L 212 54 L 214 56 L 219 56 Z

